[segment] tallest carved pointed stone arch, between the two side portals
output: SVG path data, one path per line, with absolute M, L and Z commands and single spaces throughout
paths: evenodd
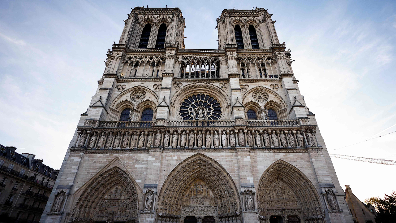
M 169 173 L 158 196 L 158 213 L 181 215 L 182 207 L 208 205 L 211 213 L 240 212 L 238 189 L 228 172 L 204 154 L 194 154 Z M 189 211 L 183 208 L 183 211 Z M 185 214 L 185 213 L 184 213 Z

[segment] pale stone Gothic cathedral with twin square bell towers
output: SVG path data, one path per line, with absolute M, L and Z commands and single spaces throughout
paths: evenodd
M 271 15 L 223 10 L 202 50 L 133 8 L 40 222 L 352 223 Z

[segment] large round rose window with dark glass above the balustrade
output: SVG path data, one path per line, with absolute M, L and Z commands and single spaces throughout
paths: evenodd
M 209 94 L 192 94 L 181 102 L 179 112 L 184 120 L 217 120 L 221 116 L 221 105 Z

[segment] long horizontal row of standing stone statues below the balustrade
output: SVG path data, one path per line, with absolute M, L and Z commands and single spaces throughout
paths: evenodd
M 74 146 L 86 148 L 300 148 L 316 146 L 315 131 L 160 131 L 93 133 L 78 135 Z M 302 133 L 302 134 L 301 134 Z M 88 138 L 87 138 L 88 137 Z

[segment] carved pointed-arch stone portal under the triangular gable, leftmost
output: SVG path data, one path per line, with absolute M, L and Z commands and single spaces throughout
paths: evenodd
M 118 166 L 82 186 L 71 213 L 74 222 L 138 221 L 139 200 L 131 176 Z

